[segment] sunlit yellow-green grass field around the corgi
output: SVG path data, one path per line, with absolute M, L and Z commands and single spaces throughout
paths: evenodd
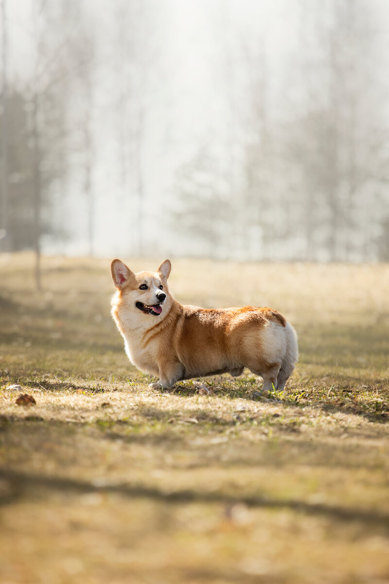
M 109 260 L 45 258 L 40 294 L 32 265 L 0 256 L 2 584 L 389 582 L 389 266 L 173 260 L 181 303 L 295 325 L 264 395 L 248 372 L 150 390 Z

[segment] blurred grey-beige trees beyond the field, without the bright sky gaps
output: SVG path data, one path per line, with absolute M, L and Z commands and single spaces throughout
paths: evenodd
M 216 42 L 229 36 L 207 64 L 218 75 L 225 131 L 191 144 L 171 170 L 158 218 L 177 253 L 389 259 L 389 86 L 379 12 L 367 0 L 294 6 L 297 42 L 282 74 L 266 34 L 239 29 L 222 5 L 222 19 L 209 13 Z M 34 249 L 39 285 L 42 238 L 73 237 L 66 206 L 82 215 L 93 255 L 106 196 L 120 228 L 130 225 L 131 252 L 151 253 L 149 128 L 166 67 L 163 37 L 151 34 L 161 22 L 155 2 L 116 0 L 114 36 L 104 47 L 88 2 L 33 3 L 30 65 L 19 76 L 10 66 L 6 9 L 2 0 L 1 250 Z M 174 100 L 165 106 L 166 124 L 174 107 Z M 116 186 L 106 195 L 94 178 L 103 111 L 115 148 Z

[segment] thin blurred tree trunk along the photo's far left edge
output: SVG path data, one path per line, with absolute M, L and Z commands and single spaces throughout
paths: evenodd
M 0 156 L 1 156 L 1 249 L 2 251 L 9 250 L 9 226 L 8 226 L 8 131 L 7 131 L 7 36 L 6 36 L 6 13 L 5 0 L 1 2 L 1 28 L 2 28 L 2 92 L 0 98 L 1 107 L 1 136 L 0 136 Z

